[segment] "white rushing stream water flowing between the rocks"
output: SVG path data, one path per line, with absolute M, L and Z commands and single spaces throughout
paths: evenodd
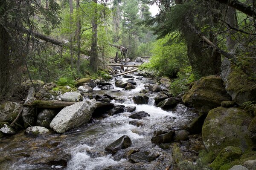
M 0 140 L 0 169 L 132 170 L 136 168 L 125 155 L 133 149 L 160 154 L 154 161 L 139 163 L 136 166 L 146 170 L 165 170 L 172 164 L 171 149 L 163 150 L 151 143 L 154 130 L 167 130 L 167 127 L 179 129 L 196 114 L 182 104 L 168 111 L 156 107 L 154 97 L 157 93 L 149 95 L 148 104 L 134 104 L 132 97 L 142 95 L 139 93 L 140 90 L 144 88 L 145 83 L 152 80 L 137 76 L 134 81 L 137 82 L 137 87 L 133 90 L 127 91 L 118 87 L 100 90 L 96 87 L 93 94 L 116 96 L 113 103 L 136 106 L 136 111 L 147 112 L 150 116 L 139 121 L 142 126 L 129 124 L 129 121 L 134 119 L 128 117 L 131 113 L 123 112 L 105 118 L 93 118 L 89 124 L 62 135 L 52 133 L 33 138 L 20 132 Z M 114 84 L 114 80 L 110 82 Z M 113 156 L 106 153 L 105 147 L 122 135 L 131 138 L 131 147 L 120 150 Z M 67 167 L 63 167 L 59 162 L 49 163 L 53 158 L 68 158 Z

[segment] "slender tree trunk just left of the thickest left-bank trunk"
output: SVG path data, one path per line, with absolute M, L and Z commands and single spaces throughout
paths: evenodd
M 76 63 L 76 69 L 77 69 L 77 73 L 80 74 L 80 49 L 81 49 L 81 19 L 79 16 L 79 0 L 76 0 L 76 11 L 77 11 L 77 31 L 76 31 L 76 35 L 77 35 L 77 63 Z

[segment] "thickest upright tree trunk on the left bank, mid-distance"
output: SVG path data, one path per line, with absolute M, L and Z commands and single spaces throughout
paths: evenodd
M 97 3 L 97 0 L 94 0 L 95 3 Z M 98 24 L 97 24 L 97 14 L 98 13 L 98 9 L 96 7 L 95 11 L 94 11 L 94 17 L 93 17 L 93 22 L 92 22 L 92 32 L 93 32 L 93 36 L 92 36 L 92 43 L 91 43 L 91 56 L 90 56 L 90 67 L 93 69 L 93 71 L 97 71 L 97 61 L 98 61 L 98 48 L 97 48 L 97 44 L 98 44 Z

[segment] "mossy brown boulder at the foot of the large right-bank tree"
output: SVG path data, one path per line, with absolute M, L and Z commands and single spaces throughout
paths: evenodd
M 230 99 L 221 77 L 214 75 L 202 77 L 183 95 L 183 102 L 193 105 L 200 112 L 208 112 L 210 109 L 221 106 L 221 101 Z

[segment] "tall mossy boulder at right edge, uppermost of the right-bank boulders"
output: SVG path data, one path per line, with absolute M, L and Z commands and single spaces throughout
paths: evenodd
M 224 81 L 227 93 L 231 95 L 233 101 L 241 106 L 246 101 L 256 100 L 256 83 L 251 80 L 253 75 L 243 72 L 242 69 L 227 59 L 224 59 L 221 69 L 221 78 Z M 249 71 L 250 69 L 246 70 Z

